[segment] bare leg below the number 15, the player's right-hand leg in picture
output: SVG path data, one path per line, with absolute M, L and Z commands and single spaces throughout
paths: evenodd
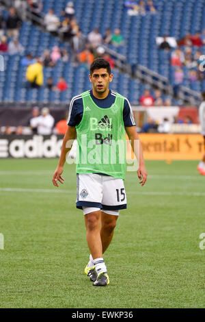
M 107 210 L 109 212 L 109 210 Z M 116 215 L 114 214 L 116 213 Z M 105 253 L 106 249 L 109 247 L 111 240 L 113 238 L 114 229 L 118 219 L 119 211 L 115 210 L 112 214 L 103 212 L 101 210 L 101 228 L 100 228 L 100 238 L 102 242 L 102 253 Z

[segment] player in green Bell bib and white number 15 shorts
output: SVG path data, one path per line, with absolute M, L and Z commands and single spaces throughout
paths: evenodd
M 103 253 L 111 243 L 120 210 L 126 208 L 124 176 L 126 171 L 126 134 L 134 150 L 139 143 L 137 174 L 143 186 L 146 166 L 135 121 L 128 99 L 109 90 L 113 79 L 109 62 L 97 58 L 90 66 L 92 90 L 70 102 L 68 129 L 61 147 L 61 156 L 53 175 L 53 185 L 63 184 L 61 176 L 70 147 L 77 136 L 77 208 L 83 210 L 90 260 L 85 274 L 94 286 L 109 284 Z

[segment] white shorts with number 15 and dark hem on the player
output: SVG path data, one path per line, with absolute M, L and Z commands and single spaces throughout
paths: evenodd
M 110 175 L 78 173 L 76 206 L 79 209 L 83 206 L 102 210 L 126 209 L 124 181 Z

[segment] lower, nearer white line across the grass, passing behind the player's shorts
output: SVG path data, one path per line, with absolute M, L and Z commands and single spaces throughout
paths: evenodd
M 75 194 L 75 190 L 60 190 L 57 188 L 53 189 L 36 189 L 36 188 L 0 188 L 2 192 L 16 192 L 16 193 L 64 193 L 64 194 Z M 159 195 L 159 196 L 205 196 L 204 193 L 180 193 L 180 192 L 169 192 L 169 191 L 126 191 L 127 195 Z

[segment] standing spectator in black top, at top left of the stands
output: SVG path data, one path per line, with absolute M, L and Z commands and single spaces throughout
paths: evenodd
M 19 32 L 18 29 L 21 25 L 21 20 L 16 14 L 16 10 L 14 7 L 10 8 L 9 15 L 6 20 L 6 28 L 8 37 L 18 37 Z

